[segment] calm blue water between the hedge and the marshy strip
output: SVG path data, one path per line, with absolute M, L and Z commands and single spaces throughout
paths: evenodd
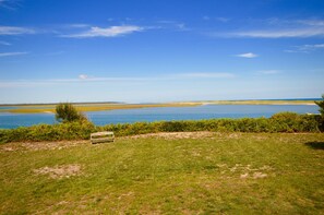
M 86 115 L 95 124 L 103 126 L 108 123 L 133 123 L 136 121 L 271 117 L 280 111 L 319 114 L 317 109 L 319 107 L 315 105 L 205 105 L 196 107 L 91 111 L 86 112 Z M 29 127 L 38 123 L 56 123 L 55 116 L 52 114 L 17 115 L 0 112 L 0 128 L 2 129 Z

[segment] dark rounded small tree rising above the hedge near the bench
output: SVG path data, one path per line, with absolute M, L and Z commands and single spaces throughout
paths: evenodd
M 70 103 L 60 103 L 56 106 L 56 119 L 63 123 L 87 120 L 84 114 L 77 111 Z

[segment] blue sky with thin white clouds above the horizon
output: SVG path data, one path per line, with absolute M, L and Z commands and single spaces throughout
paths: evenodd
M 0 104 L 309 98 L 323 0 L 0 0 Z

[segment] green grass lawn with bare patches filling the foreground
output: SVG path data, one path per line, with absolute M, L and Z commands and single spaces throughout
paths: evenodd
M 0 214 L 324 213 L 323 133 L 9 143 L 0 164 Z

